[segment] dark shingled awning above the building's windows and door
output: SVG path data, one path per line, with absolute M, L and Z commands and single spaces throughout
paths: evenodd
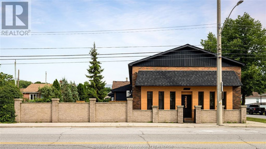
M 242 86 L 234 71 L 223 71 L 224 86 Z M 138 71 L 136 86 L 216 86 L 216 71 Z

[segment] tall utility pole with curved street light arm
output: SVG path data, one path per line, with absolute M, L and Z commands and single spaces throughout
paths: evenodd
M 238 1 L 235 7 L 241 4 L 243 0 Z M 234 8 L 235 8 L 234 7 Z M 225 24 L 221 27 L 221 0 L 217 0 L 217 125 L 223 124 L 223 111 L 222 111 L 222 94 L 223 94 L 223 82 L 222 82 L 222 31 L 227 23 L 232 11 L 227 17 Z

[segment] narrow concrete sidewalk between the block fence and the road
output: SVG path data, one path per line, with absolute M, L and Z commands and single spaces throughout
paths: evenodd
M 215 123 L 194 124 L 194 123 L 14 123 L 0 124 L 0 128 L 8 127 L 240 127 L 240 128 L 266 128 L 266 123 L 247 121 L 247 123 L 224 123 L 217 126 Z

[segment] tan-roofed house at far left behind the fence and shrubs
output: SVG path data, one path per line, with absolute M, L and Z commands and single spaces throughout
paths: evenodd
M 38 92 L 39 87 L 42 88 L 45 85 L 52 86 L 53 84 L 38 84 L 32 83 L 28 85 L 28 87 L 24 88 L 21 92 L 23 94 L 23 98 L 28 98 L 30 100 L 34 98 L 41 98 L 40 93 Z

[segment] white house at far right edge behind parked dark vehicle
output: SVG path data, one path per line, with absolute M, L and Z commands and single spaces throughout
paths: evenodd
M 258 104 L 266 107 L 266 93 L 260 95 L 258 92 L 252 92 L 253 95 L 246 97 L 246 105 Z

